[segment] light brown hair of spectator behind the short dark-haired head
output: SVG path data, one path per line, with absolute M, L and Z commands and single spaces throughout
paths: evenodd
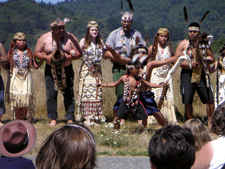
M 199 151 L 206 143 L 211 141 L 208 131 L 199 119 L 190 119 L 184 123 L 183 127 L 191 130 L 195 138 L 196 152 Z

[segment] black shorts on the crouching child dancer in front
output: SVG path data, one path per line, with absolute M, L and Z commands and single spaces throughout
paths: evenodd
M 138 102 L 137 104 L 136 111 L 132 111 L 132 109 L 128 108 L 122 100 L 116 117 L 120 117 L 126 120 L 129 113 L 131 113 L 138 120 L 145 120 L 148 118 L 145 108 L 140 102 Z

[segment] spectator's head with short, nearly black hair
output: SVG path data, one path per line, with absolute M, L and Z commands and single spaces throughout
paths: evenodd
M 189 129 L 168 125 L 153 135 L 148 152 L 152 169 L 190 169 L 195 161 L 195 140 Z

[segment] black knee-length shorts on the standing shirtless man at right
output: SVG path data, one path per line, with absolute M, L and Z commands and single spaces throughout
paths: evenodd
M 181 71 L 181 84 L 180 84 L 180 92 L 182 95 L 182 103 L 183 104 L 192 104 L 193 97 L 195 91 L 197 91 L 201 101 L 203 104 L 207 102 L 213 102 L 213 92 L 212 87 L 206 86 L 206 78 L 205 73 L 202 72 L 200 83 L 191 83 L 192 70 L 182 69 Z M 210 82 L 209 82 L 210 84 Z

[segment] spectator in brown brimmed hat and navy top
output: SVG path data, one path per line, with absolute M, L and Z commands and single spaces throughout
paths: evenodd
M 0 129 L 0 169 L 35 169 L 31 160 L 22 157 L 34 146 L 36 130 L 24 120 L 6 123 Z

